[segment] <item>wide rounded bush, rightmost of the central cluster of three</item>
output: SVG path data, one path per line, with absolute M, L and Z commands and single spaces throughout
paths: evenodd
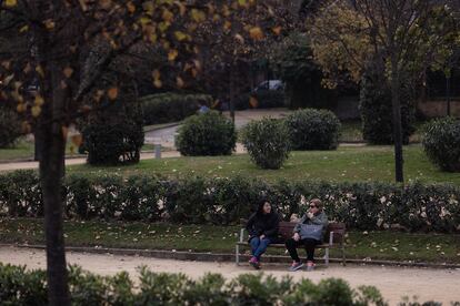
M 339 145 L 340 121 L 327 110 L 304 109 L 286 119 L 293 150 L 334 150 Z

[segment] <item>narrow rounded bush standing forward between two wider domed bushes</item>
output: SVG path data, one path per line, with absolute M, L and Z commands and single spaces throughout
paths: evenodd
M 289 157 L 289 131 L 280 120 L 266 118 L 249 123 L 242 131 L 242 143 L 263 169 L 280 169 Z

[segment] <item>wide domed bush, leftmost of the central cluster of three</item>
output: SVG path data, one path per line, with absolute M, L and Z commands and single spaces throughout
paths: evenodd
M 233 123 L 218 112 L 189 116 L 176 137 L 178 151 L 186 156 L 230 155 L 236 143 Z

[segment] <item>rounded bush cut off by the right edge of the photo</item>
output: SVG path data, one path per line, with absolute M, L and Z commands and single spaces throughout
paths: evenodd
M 437 119 L 424 126 L 423 149 L 443 171 L 460 172 L 460 121 Z

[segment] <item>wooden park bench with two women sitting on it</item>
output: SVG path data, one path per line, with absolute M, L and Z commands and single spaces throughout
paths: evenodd
M 248 237 L 244 236 L 247 220 L 241 220 L 241 225 L 243 226 L 240 231 L 240 236 L 236 245 L 236 258 L 234 262 L 237 265 L 240 264 L 240 247 L 250 247 L 248 243 Z M 280 242 L 277 244 L 270 244 L 270 247 L 277 248 L 286 248 L 284 242 L 292 237 L 293 235 L 293 227 L 297 223 L 294 222 L 280 222 L 278 235 L 280 237 Z M 324 262 L 326 265 L 329 265 L 329 249 L 330 248 L 339 248 L 342 253 L 342 265 L 346 265 L 346 257 L 344 257 L 344 234 L 346 234 L 346 226 L 343 223 L 336 223 L 331 222 L 328 225 L 324 235 L 324 242 L 317 246 L 317 248 L 324 249 Z M 301 248 L 302 246 L 299 246 Z

